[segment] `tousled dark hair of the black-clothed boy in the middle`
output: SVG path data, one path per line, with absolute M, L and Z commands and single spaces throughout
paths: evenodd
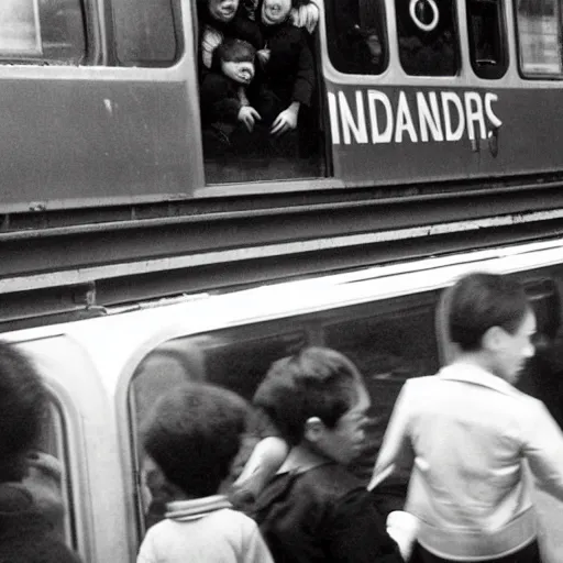
M 254 404 L 264 409 L 290 444 L 298 444 L 310 417 L 328 428 L 357 399 L 361 375 L 343 354 L 325 347 L 307 347 L 274 362 L 260 385 Z

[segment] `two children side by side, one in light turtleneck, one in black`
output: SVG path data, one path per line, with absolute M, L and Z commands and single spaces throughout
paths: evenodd
M 154 405 L 143 446 L 169 501 L 137 563 L 402 562 L 345 468 L 362 452 L 369 408 L 352 362 L 305 349 L 272 365 L 253 402 L 251 413 L 234 393 L 195 383 Z M 257 443 L 233 484 L 249 432 Z

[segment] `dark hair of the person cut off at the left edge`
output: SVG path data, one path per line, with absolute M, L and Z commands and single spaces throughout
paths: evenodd
M 21 481 L 47 412 L 47 390 L 31 360 L 0 341 L 0 482 Z

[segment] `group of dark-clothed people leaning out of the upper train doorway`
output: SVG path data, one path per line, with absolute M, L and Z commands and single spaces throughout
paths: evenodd
M 207 0 L 198 7 L 205 151 L 279 143 L 311 103 L 311 0 Z

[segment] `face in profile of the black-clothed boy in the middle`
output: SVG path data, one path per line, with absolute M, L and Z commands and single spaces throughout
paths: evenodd
M 335 462 L 347 465 L 353 462 L 365 445 L 365 423 L 369 408 L 369 395 L 362 382 L 356 382 L 356 401 L 340 417 L 334 428 L 322 426 L 314 448 Z

